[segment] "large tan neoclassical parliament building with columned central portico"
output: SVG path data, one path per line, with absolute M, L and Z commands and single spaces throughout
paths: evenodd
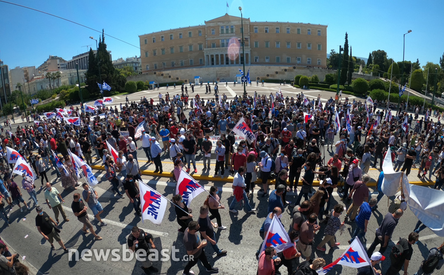
M 267 77 L 267 72 L 262 72 L 265 67 L 277 66 L 269 70 L 272 74 L 279 73 L 279 67 L 292 68 L 292 71 L 297 67 L 326 67 L 326 25 L 243 18 L 243 28 L 245 54 L 242 54 L 241 18 L 228 14 L 205 21 L 204 25 L 140 35 L 142 74 L 158 80 L 162 73 L 169 78 L 173 76 L 170 81 L 184 78 L 193 81 L 191 78 L 199 76 L 199 71 L 205 71 L 213 74 L 213 79 L 225 77 L 233 81 L 235 71 L 239 73 L 237 68 L 244 62 L 246 70 L 249 67 L 250 75 L 254 76 L 252 80 Z

